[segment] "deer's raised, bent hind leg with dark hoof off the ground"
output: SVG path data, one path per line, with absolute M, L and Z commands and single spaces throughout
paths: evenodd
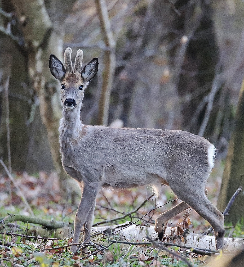
M 204 189 L 204 194 L 208 194 L 208 190 Z M 174 206 L 170 210 L 165 211 L 164 213 L 160 214 L 158 218 L 155 220 L 155 232 L 158 234 L 159 240 L 162 240 L 164 231 L 163 226 L 167 221 L 181 213 L 182 211 L 188 209 L 190 206 L 186 204 L 185 202 L 181 202 L 178 205 Z

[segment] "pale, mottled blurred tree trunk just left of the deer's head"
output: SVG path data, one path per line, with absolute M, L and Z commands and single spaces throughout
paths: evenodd
M 53 163 L 62 181 L 66 174 L 59 153 L 59 85 L 49 71 L 48 60 L 50 54 L 63 58 L 63 37 L 52 28 L 43 1 L 12 0 L 12 3 L 22 22 L 21 30 L 28 45 L 29 76 L 40 99 L 41 118 L 47 129 Z

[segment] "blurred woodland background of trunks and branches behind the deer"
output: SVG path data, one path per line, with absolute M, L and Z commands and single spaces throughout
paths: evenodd
M 56 170 L 61 183 L 66 179 L 58 144 L 60 85 L 48 58 L 62 60 L 68 46 L 73 56 L 81 48 L 84 63 L 100 61 L 85 91 L 83 123 L 204 136 L 216 146 L 220 176 L 226 162 L 223 211 L 244 183 L 244 2 L 108 0 L 107 21 L 98 2 L 0 2 L 0 157 L 10 172 Z M 232 222 L 241 209 L 237 201 Z

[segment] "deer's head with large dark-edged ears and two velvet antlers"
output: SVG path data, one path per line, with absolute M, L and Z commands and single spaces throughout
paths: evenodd
M 49 58 L 49 68 L 52 75 L 60 81 L 61 100 L 66 109 L 81 108 L 84 90 L 89 81 L 96 76 L 98 70 L 97 58 L 93 58 L 81 70 L 83 60 L 83 51 L 81 49 L 77 51 L 73 69 L 71 52 L 72 50 L 69 47 L 65 50 L 64 65 L 54 55 L 50 55 Z

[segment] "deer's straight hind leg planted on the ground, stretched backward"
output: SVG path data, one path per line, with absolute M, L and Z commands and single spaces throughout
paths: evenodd
M 201 186 L 189 188 L 187 185 L 183 187 L 179 184 L 172 183 L 170 185 L 173 192 L 179 199 L 187 203 L 193 210 L 201 215 L 213 227 L 215 234 L 216 249 L 224 247 L 224 216 L 223 214 L 208 200 Z

